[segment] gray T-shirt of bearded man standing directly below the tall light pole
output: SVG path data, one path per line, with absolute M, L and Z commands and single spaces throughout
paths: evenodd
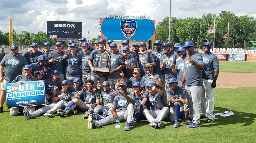
M 162 65 L 164 58 L 166 59 L 165 69 L 164 69 L 164 77 L 166 80 L 169 80 L 172 77 L 176 77 L 176 76 L 174 76 L 174 73 L 172 72 L 172 68 L 170 65 L 171 65 L 171 63 L 176 64 L 177 53 L 174 51 L 171 51 L 167 55 L 164 54 L 160 58 L 160 65 Z

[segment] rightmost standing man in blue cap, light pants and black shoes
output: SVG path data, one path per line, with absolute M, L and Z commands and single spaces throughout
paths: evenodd
M 212 43 L 207 41 L 204 43 L 204 53 L 200 55 L 203 57 L 205 69 L 202 71 L 203 87 L 201 97 L 201 111 L 203 117 L 207 118 L 206 123 L 214 121 L 213 107 L 214 107 L 214 89 L 219 75 L 219 61 L 218 58 L 210 52 Z M 202 117 L 201 116 L 201 117 Z

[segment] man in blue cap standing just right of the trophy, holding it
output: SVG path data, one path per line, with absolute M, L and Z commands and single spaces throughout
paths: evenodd
M 108 73 L 108 82 L 110 88 L 115 89 L 116 80 L 121 78 L 120 73 L 124 68 L 124 58 L 117 50 L 117 44 L 115 42 L 110 44 L 110 72 Z

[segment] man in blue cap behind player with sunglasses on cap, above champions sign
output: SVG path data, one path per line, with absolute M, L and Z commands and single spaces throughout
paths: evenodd
M 40 55 L 38 57 L 38 62 L 30 64 L 30 66 L 32 67 L 32 75 L 36 76 L 36 73 L 38 70 L 43 70 L 46 73 L 44 78 L 50 78 L 50 74 L 49 74 L 50 70 L 45 63 L 46 63 L 46 57 L 44 55 Z

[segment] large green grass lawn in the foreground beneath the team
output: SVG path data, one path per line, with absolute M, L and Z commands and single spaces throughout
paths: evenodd
M 164 122 L 164 129 L 153 129 L 148 121 L 139 121 L 131 131 L 123 130 L 125 122 L 120 129 L 110 124 L 88 130 L 87 120 L 81 118 L 84 112 L 24 120 L 23 113 L 10 117 L 5 104 L 0 114 L 0 142 L 256 142 L 255 93 L 256 88 L 216 89 L 214 113 L 232 110 L 234 116 L 215 116 L 213 123 L 202 119 L 201 128 L 197 129 L 187 129 L 184 122 L 173 128 L 169 121 Z

